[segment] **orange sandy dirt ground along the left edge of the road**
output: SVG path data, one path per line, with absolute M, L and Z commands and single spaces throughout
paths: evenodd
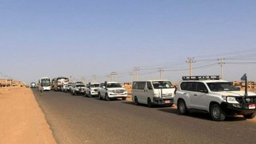
M 56 143 L 30 88 L 0 88 L 0 143 Z

